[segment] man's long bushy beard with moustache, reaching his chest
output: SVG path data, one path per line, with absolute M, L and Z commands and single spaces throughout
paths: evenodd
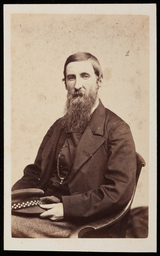
M 92 108 L 97 99 L 98 89 L 90 90 L 87 94 L 76 90 L 73 94 L 68 91 L 65 116 L 62 126 L 65 131 L 84 131 L 91 119 Z

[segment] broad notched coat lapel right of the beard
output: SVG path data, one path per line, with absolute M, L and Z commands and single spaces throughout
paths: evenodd
M 101 101 L 94 112 L 89 125 L 87 125 L 81 140 L 76 148 L 75 161 L 73 165 L 74 173 L 86 162 L 97 149 L 105 142 L 102 137 L 105 124 L 105 107 Z

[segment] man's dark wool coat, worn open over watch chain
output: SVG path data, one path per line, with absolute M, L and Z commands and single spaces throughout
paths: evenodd
M 25 168 L 12 191 L 31 187 L 46 190 L 62 131 L 60 118 L 46 133 L 35 163 Z M 69 177 L 70 195 L 62 197 L 65 218 L 87 220 L 118 212 L 132 197 L 135 173 L 130 127 L 100 101 L 76 148 Z

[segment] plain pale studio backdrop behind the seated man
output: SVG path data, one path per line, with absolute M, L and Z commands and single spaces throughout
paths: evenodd
M 12 185 L 63 116 L 63 66 L 78 51 L 98 58 L 99 97 L 130 125 L 136 151 L 146 161 L 132 208 L 148 206 L 149 16 L 144 15 L 11 14 Z

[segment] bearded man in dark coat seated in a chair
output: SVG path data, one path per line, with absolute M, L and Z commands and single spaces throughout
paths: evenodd
M 46 212 L 36 217 L 13 215 L 13 237 L 68 237 L 79 224 L 118 213 L 132 197 L 134 142 L 129 125 L 98 97 L 98 59 L 87 52 L 71 55 L 64 76 L 65 116 L 50 127 L 35 163 L 12 187 L 41 189 L 59 202 L 41 205 Z

